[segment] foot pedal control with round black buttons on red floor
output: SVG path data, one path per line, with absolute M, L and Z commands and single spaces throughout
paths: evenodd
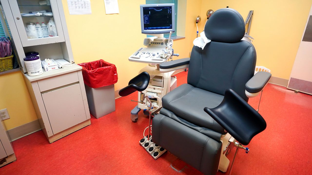
M 152 140 L 152 136 L 150 136 L 149 140 L 147 140 L 147 136 L 144 137 L 139 143 L 155 160 L 167 151 L 161 146 L 156 145 Z

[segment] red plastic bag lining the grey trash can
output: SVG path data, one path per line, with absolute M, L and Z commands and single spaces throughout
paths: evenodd
M 82 67 L 83 81 L 91 88 L 115 84 L 118 80 L 115 64 L 102 59 L 78 64 Z

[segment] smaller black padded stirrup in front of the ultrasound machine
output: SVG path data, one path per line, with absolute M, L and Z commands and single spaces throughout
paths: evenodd
M 142 72 L 139 75 L 135 76 L 133 79 L 129 81 L 128 86 L 119 90 L 119 95 L 124 97 L 129 94 L 134 93 L 135 91 L 143 91 L 149 85 L 149 73 Z

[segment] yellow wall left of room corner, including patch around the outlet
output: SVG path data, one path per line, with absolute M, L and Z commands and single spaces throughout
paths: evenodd
M 143 46 L 146 37 L 141 34 L 139 16 L 139 4 L 145 4 L 145 0 L 119 0 L 120 13 L 112 15 L 105 14 L 103 0 L 91 1 L 91 15 L 69 15 L 67 1 L 62 2 L 75 62 L 98 59 L 111 62 L 116 65 L 119 76 L 115 89 L 128 85 L 128 81 L 147 65 L 128 61 L 128 57 Z M 185 30 L 186 38 L 173 43 L 175 53 L 180 54 L 179 58 L 189 57 L 196 37 L 194 19 L 198 15 L 199 3 L 201 0 L 179 0 L 180 7 L 186 11 L 186 21 L 182 26 L 178 25 L 182 29 L 179 35 Z M 7 130 L 37 120 L 21 72 L 0 75 L 0 97 L 0 109 L 7 108 L 11 117 L 4 121 Z

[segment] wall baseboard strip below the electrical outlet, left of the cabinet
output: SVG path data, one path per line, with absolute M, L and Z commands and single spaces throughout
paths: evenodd
M 19 127 L 7 130 L 7 135 L 9 136 L 10 141 L 14 141 L 39 130 L 41 130 L 39 121 L 35 120 Z

